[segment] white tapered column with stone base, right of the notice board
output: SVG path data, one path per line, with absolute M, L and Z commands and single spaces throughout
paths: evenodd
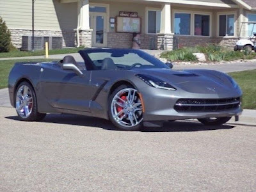
M 171 4 L 166 3 L 162 6 L 161 11 L 161 29 L 157 35 L 157 48 L 161 50 L 172 51 L 173 33 L 171 28 Z

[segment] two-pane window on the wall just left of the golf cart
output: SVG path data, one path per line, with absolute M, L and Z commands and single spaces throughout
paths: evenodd
M 219 16 L 219 36 L 234 36 L 235 15 Z

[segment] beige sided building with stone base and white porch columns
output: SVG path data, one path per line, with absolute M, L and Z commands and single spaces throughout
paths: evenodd
M 31 35 L 31 0 L 0 0 L 0 16 L 21 46 Z M 256 22 L 255 0 L 36 0 L 35 35 L 62 36 L 74 47 L 131 47 L 132 31 L 142 49 L 220 43 L 233 47 Z

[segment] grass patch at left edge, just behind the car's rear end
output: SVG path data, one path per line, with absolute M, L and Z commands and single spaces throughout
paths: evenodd
M 8 86 L 8 76 L 14 65 L 17 62 L 27 62 L 27 61 L 52 61 L 52 60 L 4 60 L 0 61 L 0 89 L 6 88 Z

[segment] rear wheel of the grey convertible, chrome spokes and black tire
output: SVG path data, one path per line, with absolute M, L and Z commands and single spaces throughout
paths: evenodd
M 46 114 L 37 112 L 36 95 L 31 84 L 22 82 L 15 94 L 15 108 L 19 119 L 33 122 L 42 120 Z

